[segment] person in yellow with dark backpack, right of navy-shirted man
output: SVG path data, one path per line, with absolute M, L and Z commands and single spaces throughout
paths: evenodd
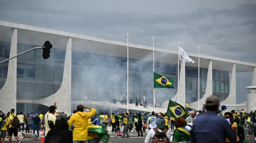
M 243 142 L 243 140 L 245 139 L 243 126 L 238 124 L 236 120 L 233 119 L 233 115 L 231 112 L 225 112 L 225 118 L 229 119 L 231 128 L 237 133 L 236 142 Z M 228 137 L 226 137 L 226 141 L 231 142 Z

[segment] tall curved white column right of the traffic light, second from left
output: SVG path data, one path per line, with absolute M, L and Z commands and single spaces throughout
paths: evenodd
M 63 79 L 59 90 L 44 99 L 35 100 L 35 103 L 51 106 L 56 101 L 57 110 L 71 115 L 71 75 L 72 75 L 72 38 L 69 37 L 67 42 Z

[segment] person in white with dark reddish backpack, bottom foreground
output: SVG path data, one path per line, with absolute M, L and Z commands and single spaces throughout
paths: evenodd
M 156 120 L 157 127 L 148 131 L 145 143 L 155 143 L 155 142 L 171 142 L 170 141 L 170 131 L 165 128 L 165 119 L 163 117 L 157 117 Z

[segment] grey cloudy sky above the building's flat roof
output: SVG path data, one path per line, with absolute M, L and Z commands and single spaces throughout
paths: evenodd
M 10 1 L 0 20 L 256 63 L 256 1 Z M 237 102 L 252 73 L 237 73 Z

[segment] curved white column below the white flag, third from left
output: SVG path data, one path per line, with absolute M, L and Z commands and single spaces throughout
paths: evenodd
M 177 100 L 177 103 L 181 105 L 185 105 L 185 102 L 186 102 L 185 62 L 181 62 L 181 65 L 180 65 L 180 78 L 179 78 L 178 84 L 179 84 L 179 91 L 177 91 L 176 95 L 170 100 L 173 100 L 173 101 Z M 178 97 L 178 92 L 179 92 L 179 97 Z M 168 104 L 169 104 L 169 100 L 163 102 L 164 107 L 167 107 Z

